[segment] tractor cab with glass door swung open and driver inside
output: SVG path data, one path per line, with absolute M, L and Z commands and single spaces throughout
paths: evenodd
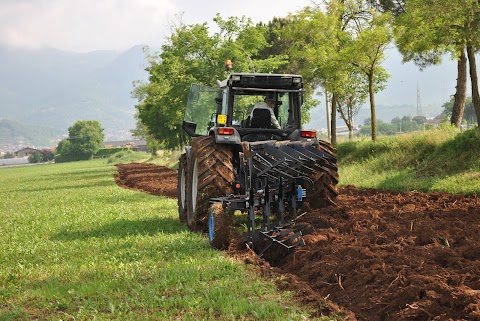
M 183 128 L 226 144 L 298 140 L 302 103 L 302 76 L 232 73 L 217 88 L 191 86 Z

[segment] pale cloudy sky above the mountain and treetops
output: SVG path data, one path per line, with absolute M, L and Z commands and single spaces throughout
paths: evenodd
M 250 17 L 286 16 L 310 0 L 0 0 L 0 44 L 74 52 L 159 47 L 169 26 Z

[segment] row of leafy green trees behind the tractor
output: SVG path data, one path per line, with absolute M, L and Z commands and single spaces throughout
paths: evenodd
M 388 79 L 381 63 L 393 41 L 405 61 L 413 60 L 422 68 L 438 63 L 446 53 L 458 58 L 451 115 L 457 126 L 465 110 L 468 57 L 472 101 L 480 122 L 474 56 L 479 13 L 478 0 L 329 0 L 267 24 L 217 15 L 216 32 L 207 23 L 180 23 L 172 26 L 161 52 L 149 56 L 149 82 L 134 89 L 139 101 L 135 134 L 165 148 L 183 145 L 181 120 L 190 84 L 212 86 L 224 79 L 223 62 L 231 59 L 237 72 L 302 74 L 309 96 L 305 115 L 315 105 L 315 90 L 322 87 L 331 107 L 333 143 L 337 113 L 353 130 L 354 116 L 368 102 L 370 135 L 375 140 L 375 93 Z

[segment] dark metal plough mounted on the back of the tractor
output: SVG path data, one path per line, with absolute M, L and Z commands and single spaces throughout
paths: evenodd
M 245 242 L 259 256 L 273 249 L 290 251 L 304 245 L 302 236 L 314 228 L 297 223 L 301 216 L 297 213 L 309 194 L 315 193 L 317 184 L 324 188 L 325 173 L 336 173 L 335 157 L 310 142 L 263 141 L 242 143 L 242 148 L 244 186 L 237 186 L 237 191 L 243 193 L 210 200 L 212 208 L 216 207 L 208 219 L 210 242 L 214 246 L 226 244 L 219 239 L 224 237 L 220 230 L 225 229 L 218 226 L 225 220 L 219 213 L 232 216 L 240 211 L 247 214 Z

